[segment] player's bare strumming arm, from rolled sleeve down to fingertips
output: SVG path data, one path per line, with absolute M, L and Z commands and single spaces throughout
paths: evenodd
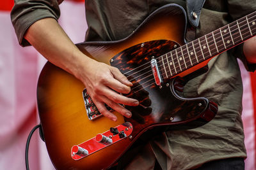
M 102 115 L 116 120 L 116 116 L 104 106 L 106 103 L 125 117 L 131 117 L 131 111 L 120 104 L 137 106 L 138 101 L 118 93 L 129 93 L 132 83 L 115 67 L 84 55 L 56 20 L 53 18 L 38 20 L 29 27 L 24 38 L 52 64 L 81 80 Z

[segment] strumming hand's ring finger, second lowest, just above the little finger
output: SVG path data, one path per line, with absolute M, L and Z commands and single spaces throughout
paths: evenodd
M 132 116 L 131 111 L 125 109 L 120 104 L 115 103 L 115 102 L 109 100 L 108 97 L 102 97 L 102 101 L 104 101 L 104 103 L 106 103 L 110 108 L 112 108 L 113 110 L 117 111 L 118 113 L 120 113 L 124 117 L 130 118 Z

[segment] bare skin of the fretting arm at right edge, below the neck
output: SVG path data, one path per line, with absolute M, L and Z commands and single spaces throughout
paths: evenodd
M 256 37 L 248 39 L 244 42 L 243 52 L 246 60 L 251 63 L 256 63 Z

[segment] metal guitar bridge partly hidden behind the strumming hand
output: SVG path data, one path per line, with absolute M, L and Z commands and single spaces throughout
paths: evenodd
M 95 106 L 95 104 L 93 103 L 92 98 L 87 93 L 86 89 L 83 90 L 83 99 L 84 99 L 84 105 L 85 105 L 86 113 L 89 120 L 94 120 L 102 116 L 99 110 L 97 109 L 97 107 Z M 105 104 L 105 106 L 107 110 L 113 111 L 111 108 L 109 108 L 107 104 Z

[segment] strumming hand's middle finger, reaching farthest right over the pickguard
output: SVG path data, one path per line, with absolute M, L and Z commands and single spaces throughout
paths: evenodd
M 122 96 L 111 89 L 106 88 L 102 90 L 102 94 L 105 94 L 105 96 L 108 97 L 108 99 L 114 101 L 115 103 L 125 104 L 127 106 L 138 106 L 139 104 L 138 100 Z

